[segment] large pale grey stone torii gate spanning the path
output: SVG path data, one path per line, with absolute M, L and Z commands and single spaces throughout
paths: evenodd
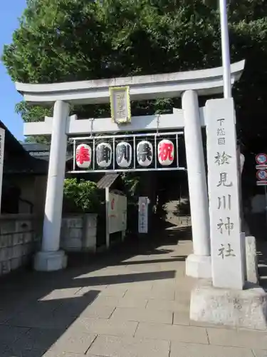
M 231 84 L 239 80 L 244 61 L 231 65 Z M 70 116 L 70 104 L 103 104 L 110 101 L 109 88 L 129 86 L 132 101 L 182 96 L 182 109 L 173 114 L 134 116 L 130 124 L 119 126 L 107 119 L 77 120 Z M 152 76 L 133 76 L 61 84 L 22 84 L 16 89 L 32 104 L 53 105 L 53 118 L 25 123 L 24 135 L 51 135 L 51 155 L 46 190 L 45 217 L 41 251 L 34 266 L 38 271 L 56 271 L 66 267 L 67 257 L 60 247 L 63 183 L 69 135 L 100 134 L 115 131 L 156 131 L 184 129 L 187 154 L 194 253 L 188 256 L 188 276 L 211 278 L 209 203 L 206 186 L 201 126 L 206 126 L 204 109 L 198 96 L 223 93 L 223 69 L 204 69 Z

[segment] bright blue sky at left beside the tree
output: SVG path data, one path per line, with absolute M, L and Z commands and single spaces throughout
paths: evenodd
M 15 5 L 16 4 L 16 5 Z M 0 51 L 4 44 L 10 44 L 12 34 L 19 27 L 18 18 L 26 8 L 26 0 L 9 0 L 1 4 L 0 14 Z M 15 85 L 6 73 L 6 68 L 0 62 L 0 119 L 17 139 L 23 139 L 23 123 L 15 113 L 15 105 L 22 96 L 16 92 Z

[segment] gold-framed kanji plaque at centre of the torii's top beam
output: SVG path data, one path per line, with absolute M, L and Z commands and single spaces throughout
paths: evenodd
M 117 124 L 131 122 L 130 87 L 110 87 L 111 118 Z

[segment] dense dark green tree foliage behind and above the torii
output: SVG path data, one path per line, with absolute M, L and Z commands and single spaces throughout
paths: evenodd
M 246 59 L 234 89 L 239 134 L 257 150 L 267 134 L 267 1 L 231 1 L 229 33 L 231 61 Z M 219 11 L 214 1 L 202 0 L 28 0 L 3 61 L 14 81 L 29 83 L 220 66 Z M 179 100 L 134 102 L 132 114 L 172 105 Z M 47 110 L 19 106 L 25 121 L 40 120 Z M 84 118 L 106 116 L 109 108 L 73 111 Z

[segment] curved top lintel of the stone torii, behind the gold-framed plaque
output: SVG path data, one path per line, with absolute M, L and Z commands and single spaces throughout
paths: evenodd
M 244 65 L 245 61 L 231 64 L 231 84 L 239 80 Z M 16 83 L 25 101 L 43 105 L 58 100 L 73 104 L 108 103 L 111 86 L 130 86 L 133 101 L 174 98 L 189 89 L 197 91 L 199 96 L 212 96 L 223 92 L 223 68 L 58 84 Z

